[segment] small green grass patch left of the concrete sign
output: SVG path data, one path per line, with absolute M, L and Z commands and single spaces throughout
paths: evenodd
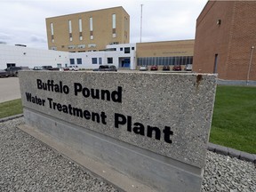
M 23 113 L 21 99 L 0 103 L 0 118 L 14 116 L 21 113 Z

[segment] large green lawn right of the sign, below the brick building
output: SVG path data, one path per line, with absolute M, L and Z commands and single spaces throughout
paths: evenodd
M 218 85 L 210 141 L 256 154 L 256 87 Z

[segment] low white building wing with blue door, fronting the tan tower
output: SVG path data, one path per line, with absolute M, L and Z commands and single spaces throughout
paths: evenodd
M 34 68 L 52 66 L 93 69 L 113 64 L 116 68 L 136 68 L 136 44 L 109 44 L 101 52 L 59 52 L 23 46 L 0 45 L 0 69 L 11 66 Z

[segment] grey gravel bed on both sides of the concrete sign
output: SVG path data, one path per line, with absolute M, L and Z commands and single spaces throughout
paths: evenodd
M 17 128 L 0 123 L 0 191 L 118 191 Z M 202 192 L 255 192 L 255 164 L 208 151 Z

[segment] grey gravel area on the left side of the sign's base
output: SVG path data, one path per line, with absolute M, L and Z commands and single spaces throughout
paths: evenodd
M 0 124 L 0 191 L 118 191 L 20 131 L 23 117 Z

